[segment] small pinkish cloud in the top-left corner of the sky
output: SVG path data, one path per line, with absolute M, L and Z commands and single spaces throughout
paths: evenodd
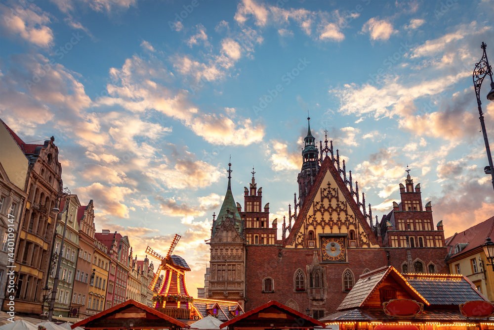
M 48 48 L 53 45 L 53 31 L 47 26 L 49 14 L 31 3 L 28 7 L 14 5 L 13 8 L 0 4 L 2 34 L 11 38 L 20 36 L 25 41 L 38 47 Z

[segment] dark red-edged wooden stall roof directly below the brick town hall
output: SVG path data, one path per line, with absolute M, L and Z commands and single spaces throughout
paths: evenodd
M 325 327 L 324 323 L 297 312 L 277 301 L 271 300 L 243 315 L 223 323 L 220 328 L 228 329 L 306 329 Z

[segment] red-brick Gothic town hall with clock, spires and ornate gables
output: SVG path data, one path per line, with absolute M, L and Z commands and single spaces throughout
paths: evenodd
M 236 301 L 246 312 L 276 300 L 319 319 L 334 312 L 371 270 L 448 273 L 442 222 L 434 227 L 431 202 L 423 206 L 420 184 L 413 187 L 410 173 L 400 184 L 401 202 L 378 221 L 332 141 L 324 144 L 318 148 L 309 120 L 298 197 L 283 219 L 281 240 L 255 172 L 242 206 L 233 197 L 229 164 L 227 192 L 208 242 L 209 298 Z

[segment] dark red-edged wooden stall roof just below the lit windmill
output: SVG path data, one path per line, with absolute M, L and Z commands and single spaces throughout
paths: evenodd
M 132 326 L 130 325 L 132 324 Z M 93 315 L 71 326 L 72 329 L 179 329 L 190 328 L 154 308 L 135 300 L 127 300 L 117 306 Z

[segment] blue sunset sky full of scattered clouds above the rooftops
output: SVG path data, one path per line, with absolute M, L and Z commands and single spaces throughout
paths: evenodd
M 494 214 L 472 72 L 494 63 L 493 0 L 0 3 L 0 118 L 54 136 L 64 186 L 96 230 L 188 262 L 204 286 L 232 163 L 270 219 L 288 215 L 307 133 L 325 130 L 379 219 L 407 165 L 446 237 Z M 488 80 L 488 78 L 487 78 Z M 481 91 L 494 143 L 494 104 Z M 281 226 L 279 226 L 281 227 Z M 279 236 L 281 231 L 279 230 Z M 155 260 L 155 265 L 158 263 Z

